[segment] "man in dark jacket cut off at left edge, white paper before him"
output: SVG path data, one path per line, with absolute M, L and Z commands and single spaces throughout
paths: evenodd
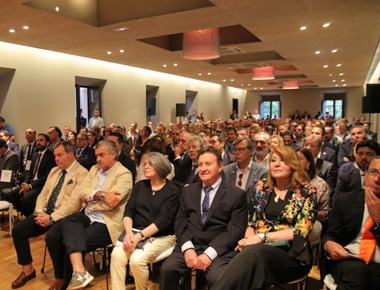
M 14 174 L 18 170 L 19 160 L 16 153 L 14 153 L 12 150 L 8 149 L 8 144 L 5 140 L 0 139 L 0 176 L 3 175 L 5 177 L 5 171 L 3 170 L 10 170 L 11 174 L 8 176 L 7 181 L 1 181 L 0 182 L 0 196 L 1 191 L 4 188 L 11 188 L 13 186 L 14 181 Z

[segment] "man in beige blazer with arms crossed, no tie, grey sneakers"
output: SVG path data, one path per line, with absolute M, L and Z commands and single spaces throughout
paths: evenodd
M 84 268 L 83 253 L 115 244 L 123 231 L 122 219 L 131 195 L 132 174 L 117 161 L 118 152 L 114 142 L 103 140 L 96 144 L 97 165 L 91 168 L 62 210 L 78 208 L 82 202 L 86 207 L 80 213 L 67 216 L 55 235 L 46 236 L 55 283 L 69 284 L 67 289 L 82 289 L 93 279 Z

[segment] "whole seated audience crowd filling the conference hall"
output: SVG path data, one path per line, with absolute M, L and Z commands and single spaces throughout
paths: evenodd
M 46 233 L 49 290 L 87 286 L 83 255 L 109 244 L 112 289 L 125 289 L 127 264 L 148 289 L 148 264 L 168 250 L 160 289 L 178 289 L 190 269 L 211 289 L 263 289 L 307 275 L 315 243 L 338 289 L 379 289 L 380 146 L 369 122 L 201 116 L 126 129 L 95 110 L 78 133 L 27 129 L 20 150 L 0 117 L 1 197 L 26 217 L 12 235 L 22 267 L 12 288 L 36 277 L 29 238 Z

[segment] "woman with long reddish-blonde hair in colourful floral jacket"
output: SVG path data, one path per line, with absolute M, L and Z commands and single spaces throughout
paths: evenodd
M 256 186 L 241 251 L 211 289 L 265 289 L 301 278 L 312 266 L 307 242 L 316 219 L 315 187 L 295 151 L 275 147 L 268 177 Z

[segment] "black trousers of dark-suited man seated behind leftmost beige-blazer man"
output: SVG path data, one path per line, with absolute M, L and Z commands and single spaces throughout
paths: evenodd
M 11 202 L 13 207 L 21 212 L 24 216 L 30 216 L 36 207 L 36 200 L 42 187 L 29 190 L 28 193 L 19 193 L 21 187 L 17 187 L 11 192 Z

